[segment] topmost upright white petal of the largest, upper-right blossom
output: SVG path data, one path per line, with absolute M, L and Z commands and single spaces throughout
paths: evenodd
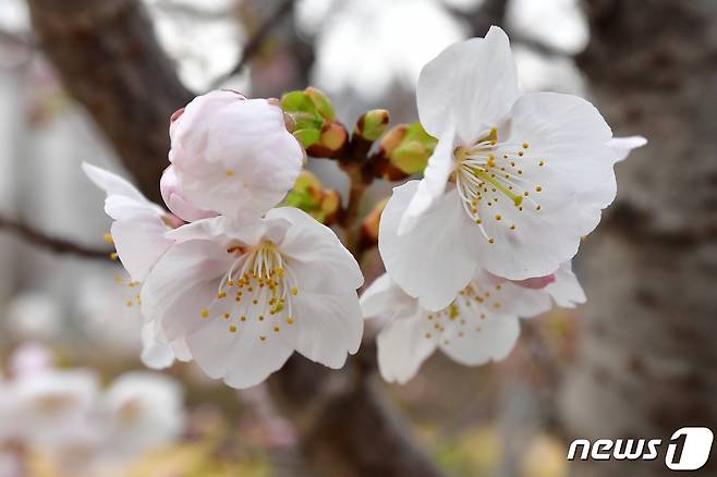
M 463 143 L 497 125 L 518 95 L 510 42 L 496 26 L 485 39 L 471 38 L 445 49 L 423 68 L 416 90 L 426 131 L 438 137 L 448 124 L 455 124 Z

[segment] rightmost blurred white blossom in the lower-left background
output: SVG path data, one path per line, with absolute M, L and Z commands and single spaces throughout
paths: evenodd
M 175 441 L 185 412 L 179 383 L 156 372 L 120 376 L 100 400 L 101 447 L 111 458 L 127 458 Z

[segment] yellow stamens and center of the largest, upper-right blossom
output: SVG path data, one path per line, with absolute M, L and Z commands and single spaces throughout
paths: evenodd
M 528 157 L 527 143 L 498 142 L 497 127 L 491 127 L 479 137 L 482 139 L 472 146 L 461 146 L 454 150 L 458 163 L 454 180 L 465 213 L 481 227 L 488 242 L 494 243 L 495 240 L 483 227 L 484 218 L 506 223 L 510 231 L 515 231 L 518 227 L 505 222 L 500 213 L 490 213 L 488 207 L 498 206 L 499 199 L 503 203 L 507 197 L 520 212 L 525 200 L 532 203 L 535 210 L 540 210 L 540 206 L 531 198 L 531 191 L 542 192 L 543 187 L 530 184 L 530 174 L 524 170 L 532 170 L 534 166 L 542 168 L 545 161 Z

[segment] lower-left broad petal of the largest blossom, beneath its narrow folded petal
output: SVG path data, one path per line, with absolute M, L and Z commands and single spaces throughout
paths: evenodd
M 393 189 L 381 215 L 378 248 L 386 271 L 421 306 L 439 310 L 463 290 L 478 258 L 466 243 L 474 228 L 460 206 L 455 189 L 447 193 L 405 235 L 398 234 L 403 210 L 415 194 L 417 181 Z

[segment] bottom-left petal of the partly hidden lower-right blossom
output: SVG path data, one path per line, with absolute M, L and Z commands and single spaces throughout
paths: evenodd
M 408 382 L 436 350 L 436 342 L 425 337 L 424 317 L 425 314 L 397 317 L 378 334 L 378 370 L 386 381 Z

